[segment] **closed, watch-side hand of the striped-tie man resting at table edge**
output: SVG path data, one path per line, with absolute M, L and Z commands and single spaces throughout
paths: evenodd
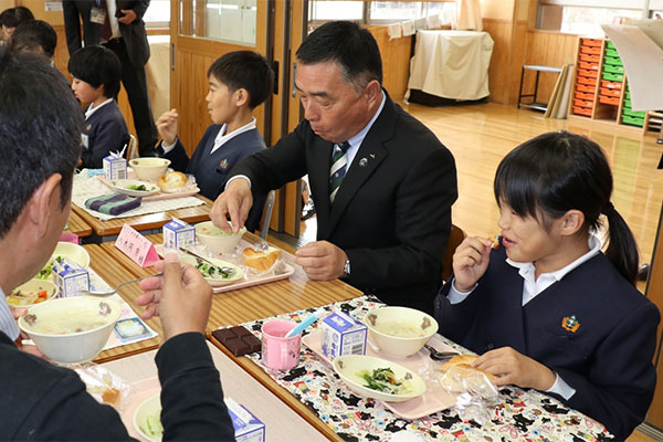
M 312 280 L 336 280 L 343 275 L 348 255 L 327 241 L 311 242 L 295 253 L 299 264 Z

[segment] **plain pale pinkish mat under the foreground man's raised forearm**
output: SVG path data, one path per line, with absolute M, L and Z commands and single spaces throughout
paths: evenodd
M 265 424 L 266 441 L 314 442 L 326 439 L 278 398 L 263 388 L 260 382 L 238 367 L 228 356 L 219 351 L 210 343 L 208 345 L 214 360 L 214 366 L 221 375 L 223 396 L 246 407 L 249 411 Z M 104 367 L 133 386 L 151 386 L 150 379 L 152 379 L 156 387 L 158 386 L 157 367 L 154 361 L 156 354 L 157 351 L 152 350 L 134 355 L 104 364 Z M 144 400 L 146 397 L 151 396 L 151 392 L 156 393 L 157 391 L 154 388 L 147 388 L 143 391 L 131 393 L 127 398 L 127 402 L 125 402 L 127 406 L 126 409 L 120 413 L 127 430 L 135 438 L 138 438 L 138 432 L 134 429 L 131 415 L 129 414 L 135 409 L 136 400 Z

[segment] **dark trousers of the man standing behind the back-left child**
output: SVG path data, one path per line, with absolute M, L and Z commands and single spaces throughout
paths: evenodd
M 156 155 L 155 145 L 159 135 L 151 112 L 149 94 L 147 93 L 145 66 L 136 67 L 131 65 L 124 39 L 114 39 L 104 43 L 104 45 L 113 51 L 122 63 L 122 84 L 129 97 L 140 156 L 154 157 Z

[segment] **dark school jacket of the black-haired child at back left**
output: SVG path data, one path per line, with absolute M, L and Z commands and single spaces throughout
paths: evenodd
M 104 157 L 112 151 L 122 151 L 129 141 L 129 131 L 124 116 L 115 101 L 99 107 L 83 125 L 83 135 L 87 137 L 87 145 L 83 141 L 83 167 L 90 169 L 102 168 Z

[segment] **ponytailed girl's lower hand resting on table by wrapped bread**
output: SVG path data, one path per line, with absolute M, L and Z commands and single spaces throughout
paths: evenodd
M 514 385 L 546 391 L 557 379 L 557 375 L 548 367 L 511 347 L 486 351 L 472 366 L 499 376 L 493 381 L 498 387 Z

